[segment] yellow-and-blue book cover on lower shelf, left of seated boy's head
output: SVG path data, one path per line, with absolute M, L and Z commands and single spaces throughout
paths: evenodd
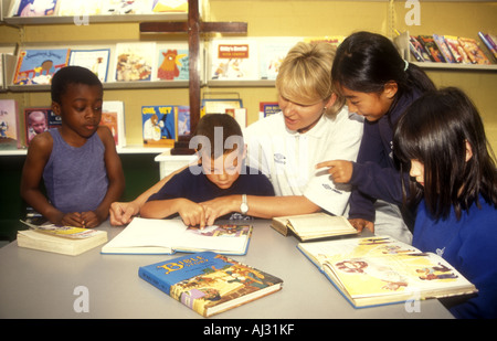
M 175 106 L 142 106 L 141 121 L 145 147 L 175 146 L 176 136 L 176 108 Z

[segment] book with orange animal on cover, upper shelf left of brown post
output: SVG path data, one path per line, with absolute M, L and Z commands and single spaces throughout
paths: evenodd
M 188 46 L 181 49 L 160 49 L 157 63 L 157 78 L 161 81 L 188 81 Z

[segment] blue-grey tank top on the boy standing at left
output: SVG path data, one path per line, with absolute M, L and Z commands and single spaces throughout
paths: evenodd
M 95 132 L 84 146 L 72 147 L 57 128 L 49 131 L 53 148 L 43 170 L 49 200 L 64 213 L 94 211 L 108 187 L 105 146 L 98 134 Z

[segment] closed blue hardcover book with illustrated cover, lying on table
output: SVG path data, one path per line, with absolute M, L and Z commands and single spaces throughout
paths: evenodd
M 212 252 L 141 266 L 138 276 L 205 318 L 283 288 L 281 278 Z

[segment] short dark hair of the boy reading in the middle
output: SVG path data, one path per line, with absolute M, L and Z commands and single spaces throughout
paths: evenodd
M 197 126 L 193 139 L 198 143 L 197 149 L 200 152 L 209 152 L 212 159 L 236 149 L 239 153 L 243 152 L 242 128 L 228 114 L 204 115 Z M 205 146 L 207 143 L 209 146 Z

